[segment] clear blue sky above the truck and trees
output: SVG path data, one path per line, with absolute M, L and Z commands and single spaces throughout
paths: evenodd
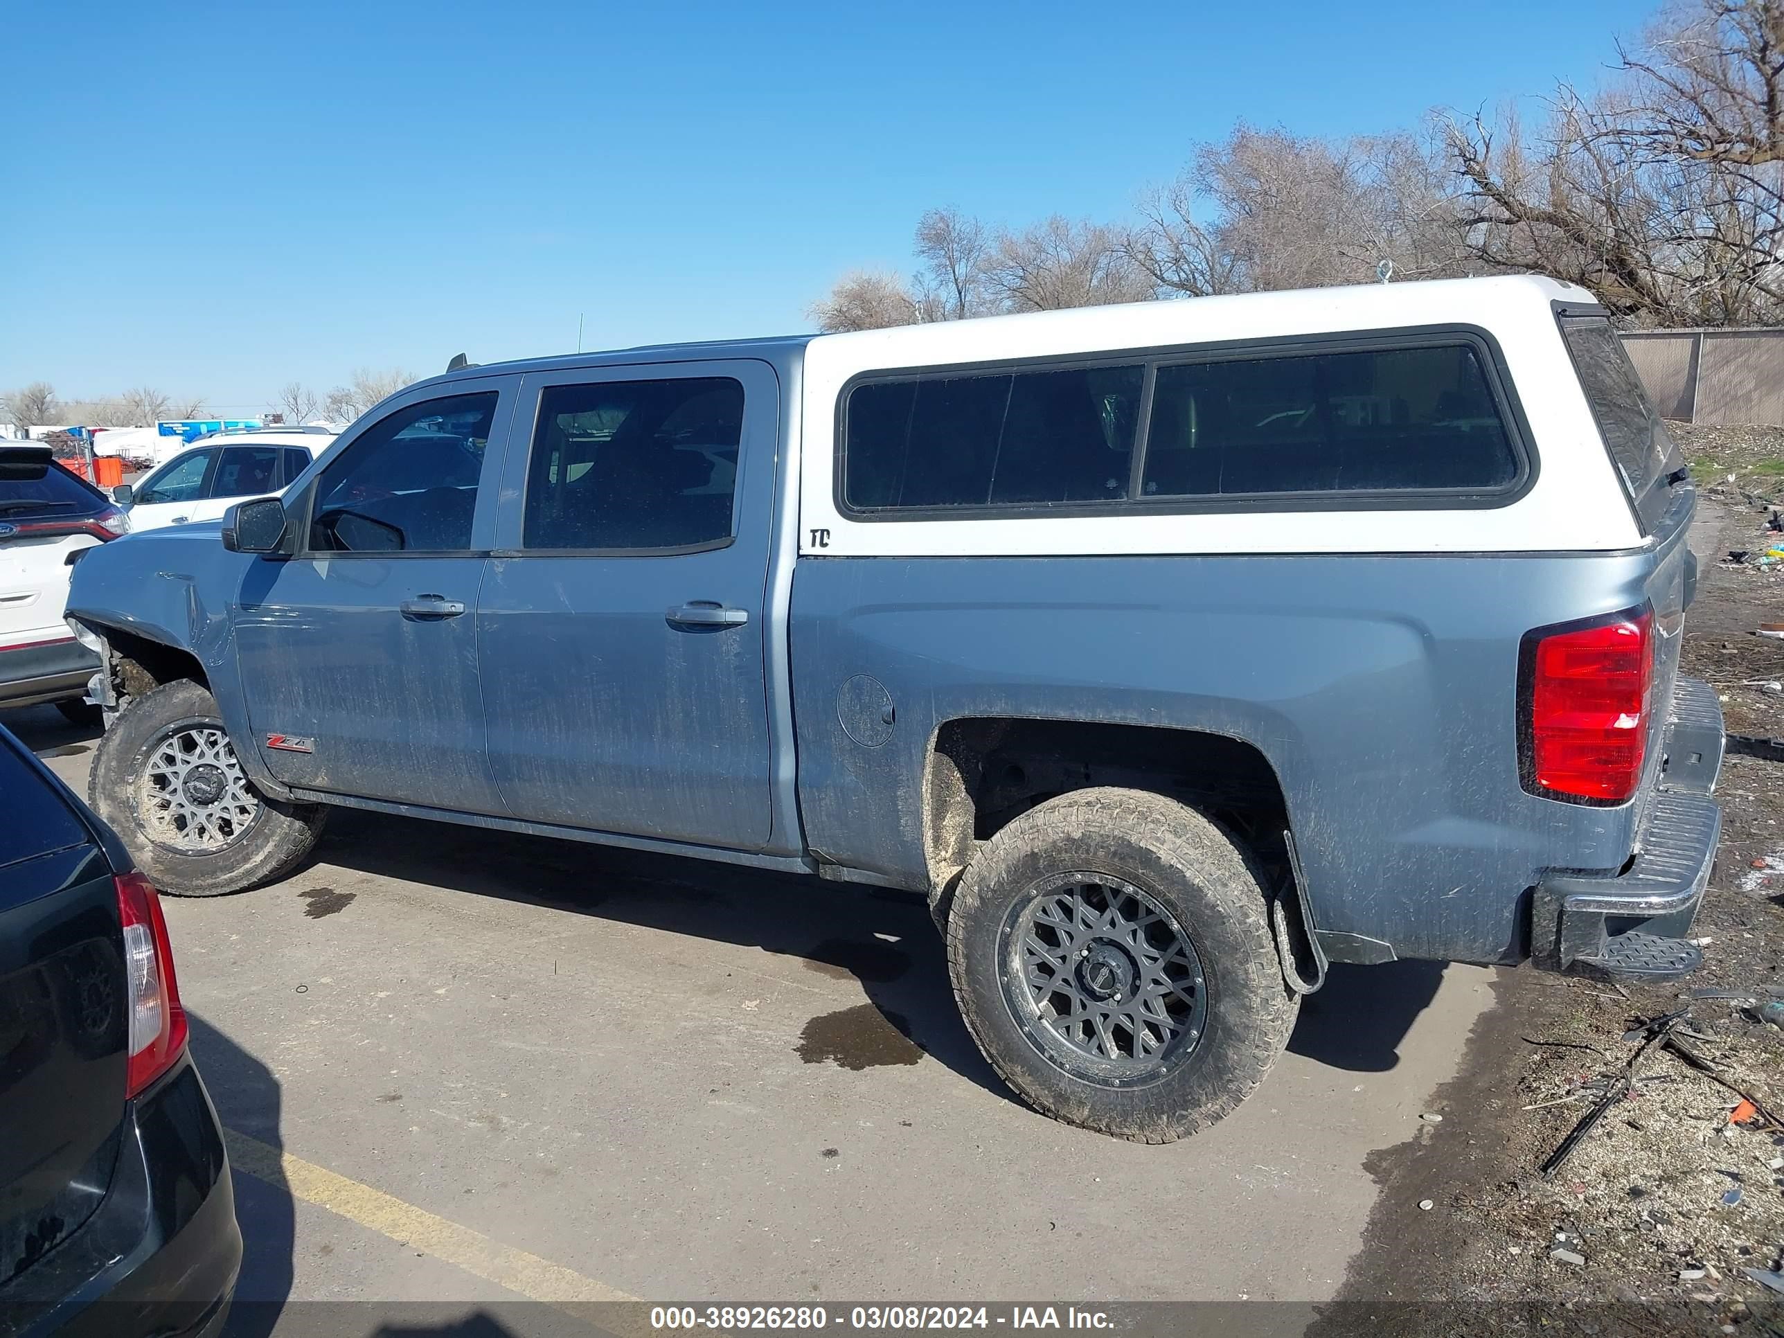
M 1113 218 L 1236 120 L 1593 84 L 1648 5 L 18 4 L 0 385 L 783 334 L 931 205 Z

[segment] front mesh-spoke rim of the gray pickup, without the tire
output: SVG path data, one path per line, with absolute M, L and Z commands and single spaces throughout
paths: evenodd
M 262 805 L 228 735 L 212 724 L 187 724 L 150 746 L 136 808 L 150 840 L 209 855 L 246 837 Z

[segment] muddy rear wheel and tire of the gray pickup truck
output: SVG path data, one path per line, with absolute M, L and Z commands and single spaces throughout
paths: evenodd
M 1169 1144 L 1236 1108 L 1288 1044 L 1263 880 L 1220 828 L 1144 790 L 1076 790 L 994 835 L 954 890 L 967 1029 L 1044 1115 Z

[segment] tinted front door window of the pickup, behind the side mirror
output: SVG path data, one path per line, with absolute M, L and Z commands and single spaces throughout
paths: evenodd
M 316 483 L 310 551 L 467 553 L 498 398 L 423 400 L 366 428 Z

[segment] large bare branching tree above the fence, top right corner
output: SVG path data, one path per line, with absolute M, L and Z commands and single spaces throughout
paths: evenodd
M 1784 0 L 1686 0 L 1525 137 L 1452 118 L 1470 248 L 1668 325 L 1784 319 Z

